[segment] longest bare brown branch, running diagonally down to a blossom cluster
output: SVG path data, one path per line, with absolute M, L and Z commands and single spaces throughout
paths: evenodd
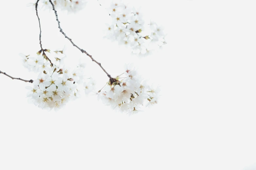
M 61 28 L 61 26 L 60 26 L 60 21 L 59 21 L 59 19 L 58 19 L 57 11 L 55 10 L 52 1 L 51 1 L 51 0 L 49 0 L 49 1 L 50 1 L 51 5 L 52 5 L 52 8 L 53 8 L 54 12 L 55 12 L 55 16 L 56 16 L 56 20 L 58 21 L 58 25 L 59 25 L 60 32 L 65 36 L 65 38 L 67 38 L 67 39 L 72 43 L 73 46 L 75 46 L 76 48 L 78 48 L 82 53 L 85 53 L 87 56 L 89 56 L 89 57 L 92 59 L 93 62 L 97 63 L 97 64 L 101 67 L 101 69 L 107 74 L 107 76 L 109 77 L 110 81 L 115 81 L 115 80 L 114 80 L 115 78 L 112 78 L 112 77 L 110 76 L 110 74 L 108 74 L 108 73 L 106 72 L 106 70 L 101 66 L 101 63 L 99 63 L 99 62 L 97 62 L 96 60 L 94 60 L 94 58 L 92 57 L 92 55 L 88 54 L 85 50 L 83 50 L 83 49 L 79 48 L 77 45 L 75 45 L 75 44 L 73 43 L 73 41 L 71 40 L 71 38 L 69 38 L 69 37 L 63 32 L 63 30 L 62 30 L 62 28 Z

